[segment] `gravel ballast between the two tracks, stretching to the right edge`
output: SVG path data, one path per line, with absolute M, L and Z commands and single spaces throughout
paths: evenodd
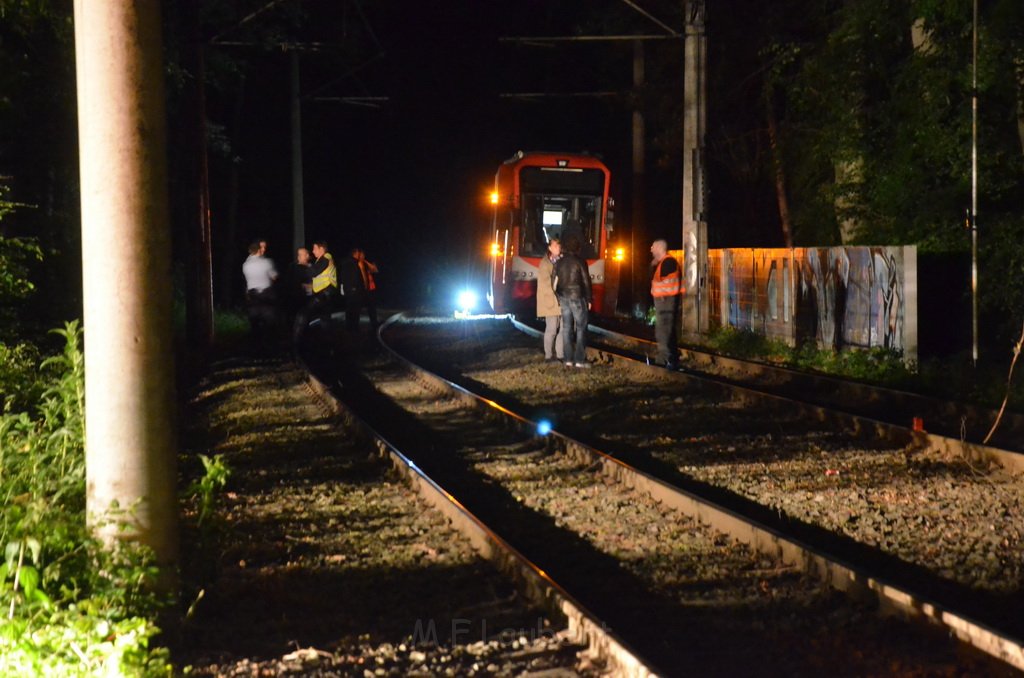
M 689 477 L 979 591 L 1024 585 L 1024 478 L 934 453 L 865 443 L 778 408 L 707 397 L 658 371 L 545 363 L 504 320 L 420 319 L 396 345 L 607 452 L 643 451 Z

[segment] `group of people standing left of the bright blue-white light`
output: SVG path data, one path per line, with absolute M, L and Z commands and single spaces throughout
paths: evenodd
M 246 279 L 246 309 L 257 346 L 272 343 L 283 314 L 294 316 L 292 339 L 298 342 L 312 321 L 327 322 L 342 302 L 347 330 L 358 330 L 364 309 L 371 327 L 377 329 L 377 265 L 359 247 L 353 247 L 350 256 L 340 262 L 335 261 L 326 241 L 315 241 L 310 249 L 300 247 L 296 251 L 288 280 L 281 282 L 267 256 L 266 241 L 249 246 L 242 273 Z

